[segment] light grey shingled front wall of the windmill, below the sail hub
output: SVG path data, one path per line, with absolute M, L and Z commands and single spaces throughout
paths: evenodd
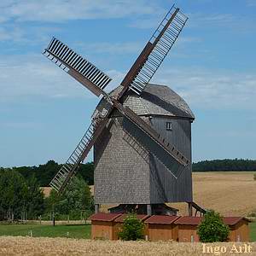
M 149 167 L 123 140 L 124 131 L 115 121 L 103 131 L 94 147 L 95 201 L 97 204 L 150 203 Z

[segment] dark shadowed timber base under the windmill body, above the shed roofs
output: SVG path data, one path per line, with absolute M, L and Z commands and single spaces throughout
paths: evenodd
M 110 213 L 128 213 L 135 212 L 137 214 L 147 215 L 177 215 L 178 210 L 173 207 L 168 207 L 166 204 L 152 204 L 152 205 L 126 205 L 120 204 L 117 207 L 108 208 Z

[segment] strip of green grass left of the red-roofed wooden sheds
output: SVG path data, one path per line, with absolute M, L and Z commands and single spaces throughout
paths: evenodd
M 43 225 L 43 224 L 2 224 L 0 236 L 48 236 L 90 239 L 90 224 Z M 68 232 L 68 236 L 67 236 Z

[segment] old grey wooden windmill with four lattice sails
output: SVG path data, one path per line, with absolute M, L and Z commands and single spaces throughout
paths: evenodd
M 148 102 L 154 102 L 156 98 L 154 104 L 158 107 L 168 110 L 172 106 L 174 113 L 185 113 L 178 114 L 178 118 L 184 119 L 190 129 L 194 115 L 186 103 L 165 86 L 148 84 L 187 20 L 188 17 L 173 5 L 119 87 L 109 94 L 104 90 L 111 81 L 108 75 L 57 38 L 52 38 L 44 55 L 96 96 L 102 96 L 88 130 L 50 182 L 58 193 L 67 187 L 94 146 L 96 212 L 99 204 L 119 203 L 119 207 L 111 209 L 112 212 L 138 207 L 141 212 L 151 214 L 165 202 L 187 201 L 191 213 L 190 130 L 189 140 L 179 147 L 188 148 L 184 154 L 170 138 L 155 129 L 151 113 L 136 113 L 126 104 L 132 98 L 135 105 L 140 100 L 146 101 L 147 97 Z M 160 95 L 152 92 L 152 88 L 160 90 Z M 165 100 L 165 94 L 170 91 L 179 101 L 177 106 Z M 183 111 L 182 106 L 187 110 Z M 166 129 L 172 130 L 172 122 L 165 124 Z M 160 213 L 165 212 L 164 208 L 161 207 Z

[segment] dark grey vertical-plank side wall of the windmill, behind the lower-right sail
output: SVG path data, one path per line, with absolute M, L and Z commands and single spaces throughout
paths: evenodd
M 166 122 L 172 122 L 172 131 L 166 131 Z M 155 130 L 160 131 L 178 150 L 191 160 L 191 124 L 189 119 L 151 119 Z M 180 177 L 175 178 L 160 160 L 150 157 L 150 201 L 158 203 L 192 201 L 192 168 L 181 166 Z

